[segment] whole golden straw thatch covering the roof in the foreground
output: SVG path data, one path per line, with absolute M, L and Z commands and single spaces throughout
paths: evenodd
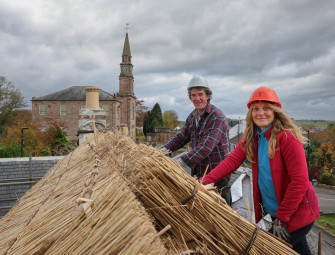
M 59 162 L 0 233 L 2 254 L 295 254 L 119 133 L 95 134 Z

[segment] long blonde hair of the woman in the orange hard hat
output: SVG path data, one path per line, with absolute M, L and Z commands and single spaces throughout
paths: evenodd
M 269 107 L 271 110 L 274 111 L 274 119 L 272 122 L 272 130 L 271 130 L 271 136 L 269 140 L 269 147 L 268 147 L 268 153 L 269 158 L 274 158 L 275 156 L 275 149 L 277 144 L 277 136 L 280 133 L 280 131 L 289 131 L 292 133 L 292 135 L 301 143 L 305 143 L 307 138 L 305 138 L 301 134 L 300 128 L 291 120 L 290 117 L 288 117 L 284 110 L 269 103 Z M 244 131 L 243 137 L 241 139 L 241 144 L 243 145 L 243 148 L 246 150 L 247 159 L 250 162 L 254 162 L 254 154 L 255 154 L 255 146 L 254 146 L 254 138 L 257 130 L 257 125 L 254 123 L 252 119 L 252 109 L 253 106 L 251 105 L 249 112 L 246 117 L 246 129 Z

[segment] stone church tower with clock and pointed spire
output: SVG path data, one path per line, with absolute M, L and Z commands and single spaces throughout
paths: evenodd
M 128 33 L 124 40 L 122 63 L 120 64 L 118 100 L 121 101 L 121 126 L 127 127 L 129 136 L 136 140 L 136 97 L 134 95 L 133 64 Z

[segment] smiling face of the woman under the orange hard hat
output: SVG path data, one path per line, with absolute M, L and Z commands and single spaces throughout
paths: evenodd
M 255 102 L 251 105 L 252 119 L 261 130 L 266 129 L 274 119 L 274 111 L 267 102 Z

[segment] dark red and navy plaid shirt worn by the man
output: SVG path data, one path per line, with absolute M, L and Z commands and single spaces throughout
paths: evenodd
M 214 169 L 229 155 L 229 128 L 226 116 L 208 103 L 196 127 L 196 110 L 186 119 L 183 128 L 164 147 L 170 151 L 191 142 L 191 150 L 182 160 L 192 169 L 192 175 L 202 176 Z

